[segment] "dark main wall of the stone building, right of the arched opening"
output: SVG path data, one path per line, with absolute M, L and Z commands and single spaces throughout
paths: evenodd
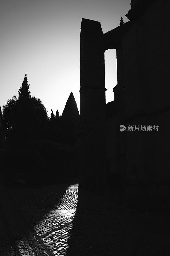
M 156 1 L 122 38 L 125 125 L 159 125 L 125 132 L 126 201 L 159 198 L 160 205 L 170 194 L 169 14 L 169 1 Z

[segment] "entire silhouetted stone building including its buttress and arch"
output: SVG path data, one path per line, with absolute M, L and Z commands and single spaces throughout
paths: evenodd
M 109 185 L 129 204 L 161 204 L 170 194 L 169 15 L 168 0 L 136 0 L 129 21 L 105 34 L 82 19 L 80 186 Z M 112 48 L 118 83 L 105 105 L 104 52 Z

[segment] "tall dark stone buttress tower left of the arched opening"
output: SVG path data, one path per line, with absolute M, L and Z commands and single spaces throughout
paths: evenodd
M 81 173 L 79 186 L 97 194 L 106 185 L 105 65 L 100 22 L 82 19 L 80 34 Z

